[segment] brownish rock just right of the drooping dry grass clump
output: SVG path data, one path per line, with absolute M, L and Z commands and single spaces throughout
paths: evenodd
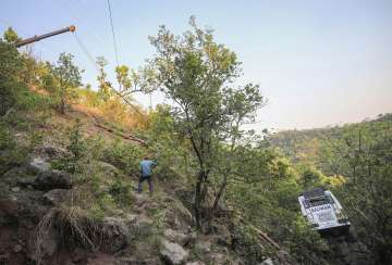
M 130 231 L 121 218 L 106 217 L 101 227 L 102 241 L 100 248 L 115 253 L 128 244 Z

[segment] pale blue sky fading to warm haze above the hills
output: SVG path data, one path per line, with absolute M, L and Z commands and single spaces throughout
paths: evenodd
M 137 68 L 155 54 L 148 36 L 159 25 L 174 34 L 195 15 L 215 29 L 216 40 L 243 62 L 240 83 L 260 85 L 268 104 L 252 127 L 303 129 L 360 122 L 392 112 L 391 0 L 110 0 L 120 64 Z M 21 37 L 74 24 L 90 54 L 103 55 L 113 73 L 115 55 L 107 0 L 0 0 L 0 30 Z M 33 46 L 37 58 L 54 62 L 63 51 L 96 87 L 97 70 L 73 34 Z M 110 78 L 114 78 L 111 74 Z M 148 96 L 136 100 L 149 106 Z M 159 92 L 151 103 L 166 102 Z

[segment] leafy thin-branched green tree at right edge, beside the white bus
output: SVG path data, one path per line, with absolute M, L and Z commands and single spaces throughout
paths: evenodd
M 392 262 L 392 123 L 364 122 L 343 127 L 331 139 L 339 174 L 346 178 L 338 192 L 373 264 Z

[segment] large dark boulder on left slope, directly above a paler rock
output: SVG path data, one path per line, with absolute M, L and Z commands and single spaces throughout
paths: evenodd
M 71 176 L 65 172 L 46 171 L 38 175 L 33 187 L 37 190 L 71 189 Z

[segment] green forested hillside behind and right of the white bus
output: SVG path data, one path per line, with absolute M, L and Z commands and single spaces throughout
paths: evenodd
M 329 184 L 340 184 L 332 188 L 375 264 L 391 263 L 391 114 L 342 127 L 283 131 L 269 143 L 295 163 L 313 165 L 332 176 Z M 304 180 L 310 184 L 306 188 L 328 185 L 311 175 L 304 175 Z

